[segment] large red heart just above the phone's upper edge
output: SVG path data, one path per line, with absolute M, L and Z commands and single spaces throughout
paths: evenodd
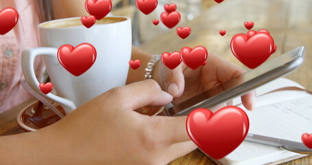
M 248 32 L 247 35 L 236 34 L 231 40 L 232 53 L 250 69 L 264 63 L 276 48 L 269 33 L 254 32 Z

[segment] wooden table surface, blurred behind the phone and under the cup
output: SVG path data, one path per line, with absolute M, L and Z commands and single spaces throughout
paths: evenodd
M 203 0 L 213 1 L 213 0 Z M 192 29 L 191 35 L 180 39 L 175 30 L 157 36 L 141 45 L 141 49 L 150 54 L 179 51 L 182 47 L 202 45 L 209 53 L 218 54 L 233 63 L 243 65 L 230 51 L 230 39 L 237 33 L 246 33 L 243 23 L 254 21 L 254 30 L 265 28 L 273 36 L 278 50 L 272 55 L 278 56 L 304 45 L 307 54 L 304 65 L 296 72 L 287 76 L 309 90 L 312 90 L 312 1 L 311 0 L 225 0 L 220 4 L 204 10 L 188 25 Z M 219 30 L 227 30 L 225 36 L 219 35 Z M 244 67 L 247 69 L 246 67 Z M 33 100 L 28 100 L 17 107 L 0 114 L 0 135 L 10 135 L 23 132 L 16 124 L 16 115 Z M 174 160 L 171 164 L 215 164 L 195 150 L 184 157 Z M 286 164 L 312 164 L 312 158 L 304 157 Z

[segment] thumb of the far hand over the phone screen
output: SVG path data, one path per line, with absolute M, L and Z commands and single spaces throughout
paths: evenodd
M 160 80 L 162 81 L 165 91 L 173 98 L 179 98 L 184 91 L 184 75 L 182 65 L 175 69 L 169 69 L 163 63 L 159 62 Z

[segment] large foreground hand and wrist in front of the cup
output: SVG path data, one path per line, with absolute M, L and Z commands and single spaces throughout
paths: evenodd
M 168 164 L 196 148 L 187 135 L 187 116 L 148 116 L 134 109 L 172 99 L 154 80 L 111 89 L 55 124 L 23 133 L 31 145 L 23 146 L 33 152 L 16 156 L 31 164 Z

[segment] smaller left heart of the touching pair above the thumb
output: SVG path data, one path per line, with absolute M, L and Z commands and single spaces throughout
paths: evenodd
M 180 65 L 182 60 L 180 52 L 172 52 L 171 54 L 165 52 L 161 55 L 161 61 L 163 61 L 164 65 L 169 69 L 174 69 Z

